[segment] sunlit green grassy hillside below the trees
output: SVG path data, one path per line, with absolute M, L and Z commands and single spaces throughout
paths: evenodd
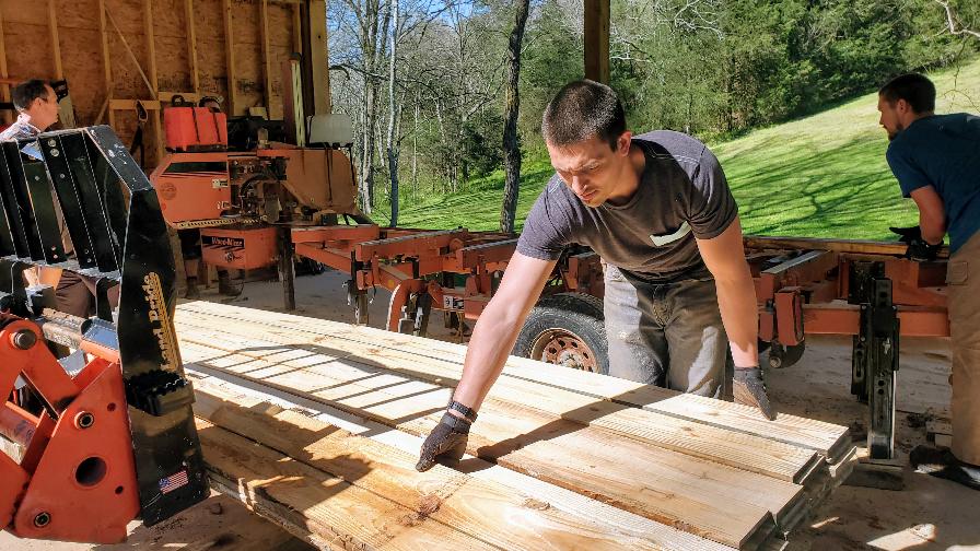
M 980 112 L 980 60 L 932 75 L 937 113 Z M 915 223 L 885 163 L 877 94 L 818 115 L 757 130 L 712 149 L 722 161 L 746 233 L 837 238 L 890 238 L 889 225 Z M 547 156 L 525 155 L 518 228 L 552 171 Z M 402 207 L 399 225 L 495 230 L 503 173 L 467 192 L 431 196 Z M 384 222 L 387 206 L 375 219 Z

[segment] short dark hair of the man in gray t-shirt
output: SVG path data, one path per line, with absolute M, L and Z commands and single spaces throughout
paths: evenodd
M 616 151 L 626 131 L 626 114 L 616 92 L 602 83 L 570 82 L 545 107 L 541 133 L 552 145 L 571 145 L 598 137 Z

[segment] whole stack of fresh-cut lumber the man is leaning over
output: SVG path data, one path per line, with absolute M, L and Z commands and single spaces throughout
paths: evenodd
M 465 347 L 205 302 L 175 321 L 212 480 L 325 548 L 778 548 L 853 465 L 842 426 L 512 357 L 475 457 L 418 473 Z

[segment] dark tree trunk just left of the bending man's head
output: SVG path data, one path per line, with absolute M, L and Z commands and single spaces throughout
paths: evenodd
M 527 23 L 527 11 L 530 0 L 518 0 L 514 28 L 508 44 L 506 107 L 503 128 L 503 162 L 506 179 L 503 188 L 503 206 L 500 209 L 500 231 L 513 232 L 514 219 L 517 214 L 517 192 L 521 189 L 521 144 L 517 142 L 517 114 L 521 109 L 521 97 L 517 84 L 521 79 L 521 43 L 524 40 L 524 25 Z

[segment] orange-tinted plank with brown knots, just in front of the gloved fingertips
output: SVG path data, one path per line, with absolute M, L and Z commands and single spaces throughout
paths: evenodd
M 405 507 L 429 503 L 428 518 L 503 549 L 655 549 L 658 542 L 608 534 L 544 502 L 443 466 L 415 470 L 416 457 L 269 402 L 198 380 L 198 417 Z M 365 466 L 368 468 L 365 469 Z M 520 524 L 512 518 L 522 518 Z M 510 529 L 501 530 L 508 526 Z

